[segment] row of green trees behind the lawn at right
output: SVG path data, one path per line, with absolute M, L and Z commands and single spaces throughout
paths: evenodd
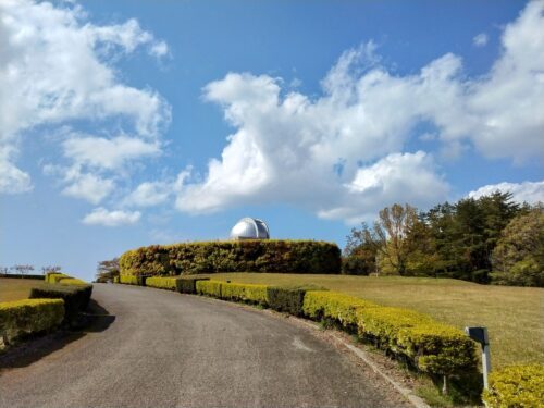
M 544 206 L 510 193 L 463 198 L 429 211 L 395 203 L 347 236 L 343 273 L 454 277 L 544 286 Z

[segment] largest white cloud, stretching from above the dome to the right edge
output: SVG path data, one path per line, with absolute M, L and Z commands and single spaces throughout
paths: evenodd
M 452 53 L 419 73 L 392 74 L 370 41 L 343 53 L 318 98 L 268 75 L 228 73 L 208 84 L 205 99 L 235 132 L 206 174 L 185 177 L 176 207 L 287 202 L 348 222 L 393 201 L 426 207 L 446 198 L 447 183 L 430 154 L 399 153 L 422 123 L 448 160 L 473 147 L 487 158 L 542 156 L 543 10 L 544 1 L 531 2 L 505 28 L 500 55 L 478 78 L 463 76 Z

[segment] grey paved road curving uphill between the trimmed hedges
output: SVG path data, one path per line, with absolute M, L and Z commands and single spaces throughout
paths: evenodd
M 144 287 L 98 284 L 92 296 L 114 321 L 4 370 L 0 407 L 407 406 L 288 319 Z

